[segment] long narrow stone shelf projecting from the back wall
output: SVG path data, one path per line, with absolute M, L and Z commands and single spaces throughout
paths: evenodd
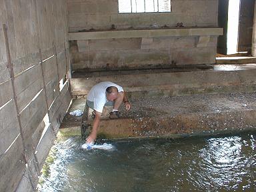
M 173 29 L 127 29 L 113 31 L 87 31 L 69 33 L 69 41 L 86 39 L 112 39 L 137 37 L 182 37 L 182 36 L 209 36 L 223 35 L 223 28 L 173 28 Z

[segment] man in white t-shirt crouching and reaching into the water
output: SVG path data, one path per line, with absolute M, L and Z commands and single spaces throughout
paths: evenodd
M 86 104 L 93 109 L 93 129 L 91 134 L 87 137 L 87 143 L 93 143 L 97 137 L 97 130 L 99 128 L 99 121 L 101 120 L 101 113 L 104 106 L 113 106 L 113 110 L 109 113 L 110 119 L 121 117 L 118 111 L 122 103 L 125 103 L 125 109 L 129 111 L 131 105 L 123 91 L 123 87 L 112 83 L 110 81 L 101 82 L 94 85 L 87 95 Z

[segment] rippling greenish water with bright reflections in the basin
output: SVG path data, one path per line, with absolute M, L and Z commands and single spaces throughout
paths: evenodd
M 57 141 L 39 191 L 256 191 L 256 132 L 107 143 Z

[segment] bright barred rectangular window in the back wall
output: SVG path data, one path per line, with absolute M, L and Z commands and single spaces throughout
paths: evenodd
M 119 13 L 171 12 L 171 0 L 118 0 Z

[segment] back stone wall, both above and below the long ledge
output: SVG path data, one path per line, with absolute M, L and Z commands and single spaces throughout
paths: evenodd
M 217 0 L 172 0 L 171 13 L 118 13 L 118 1 L 68 0 L 69 32 L 217 27 Z M 165 28 L 164 28 L 165 27 Z M 86 32 L 84 32 L 86 33 Z M 169 67 L 215 63 L 217 36 L 197 47 L 199 36 L 86 39 L 71 41 L 73 70 Z

